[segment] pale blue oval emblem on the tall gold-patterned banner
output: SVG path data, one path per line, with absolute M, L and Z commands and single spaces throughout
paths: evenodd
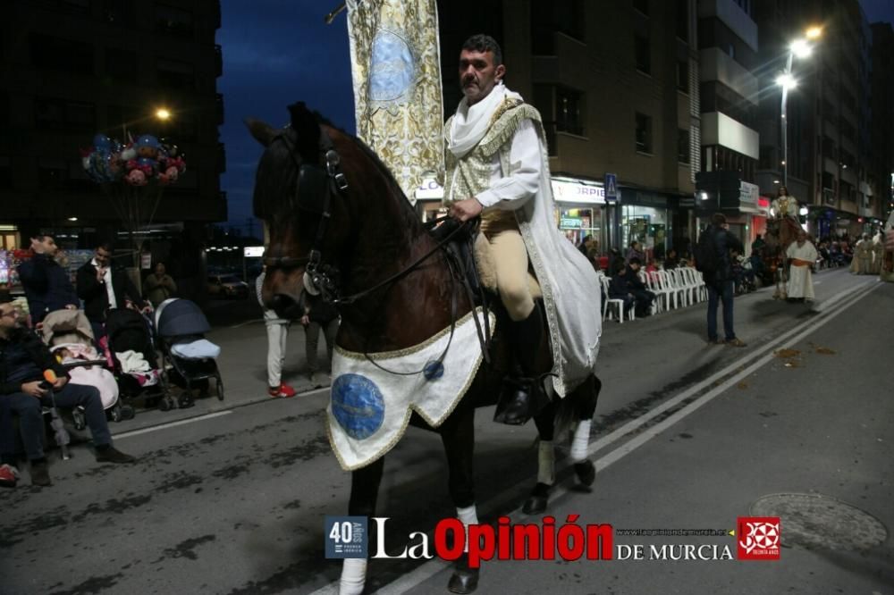
M 373 40 L 369 66 L 369 99 L 390 102 L 400 99 L 416 80 L 416 61 L 407 42 L 381 29 Z

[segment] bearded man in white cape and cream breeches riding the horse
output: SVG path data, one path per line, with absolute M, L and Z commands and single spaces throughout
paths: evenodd
M 602 324 L 600 289 L 586 257 L 553 222 L 549 162 L 540 113 L 505 87 L 497 42 L 475 35 L 460 52 L 464 98 L 444 125 L 445 202 L 460 221 L 481 215 L 497 290 L 509 314 L 519 377 L 504 383 L 502 421 L 523 423 L 539 389 L 535 355 L 544 328 L 528 283 L 533 265 L 552 343 L 553 381 L 563 397 L 593 372 Z

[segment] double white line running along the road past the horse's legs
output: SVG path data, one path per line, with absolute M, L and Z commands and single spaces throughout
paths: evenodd
M 865 298 L 867 295 L 872 293 L 873 290 L 876 289 L 877 287 L 879 287 L 879 286 L 875 285 L 873 287 L 870 287 L 869 289 L 865 289 L 862 293 L 860 293 L 860 295 L 856 296 L 856 298 L 854 298 L 853 301 L 851 301 L 850 305 L 856 304 L 856 302 L 858 300 Z M 836 294 L 835 296 L 830 298 L 826 303 L 828 305 L 831 305 L 832 302 L 837 303 L 837 302 L 841 301 L 842 299 L 848 297 L 851 293 L 859 293 L 864 288 L 865 288 L 864 285 L 862 285 L 862 286 L 858 285 L 856 287 L 852 287 L 846 291 L 842 291 L 839 294 Z M 712 382 L 719 380 L 721 377 L 723 377 L 726 374 L 729 374 L 730 372 L 732 372 L 733 370 L 735 370 L 737 368 L 739 369 L 738 373 L 733 374 L 726 381 L 722 381 L 721 384 L 715 386 L 712 390 L 709 390 L 708 392 L 704 393 L 704 395 L 702 395 L 701 397 L 696 398 L 695 401 L 693 401 L 692 403 L 689 403 L 687 406 L 683 407 L 682 409 L 680 409 L 673 415 L 670 415 L 667 419 L 662 420 L 661 423 L 655 424 L 653 427 L 648 428 L 643 433 L 637 435 L 637 437 L 635 437 L 634 439 L 629 440 L 628 442 L 625 442 L 619 448 L 616 448 L 616 449 L 612 450 L 611 452 L 608 452 L 605 455 L 603 455 L 603 457 L 596 459 L 594 461 L 596 473 L 602 471 L 603 469 L 605 469 L 607 466 L 611 465 L 612 463 L 618 462 L 621 458 L 626 457 L 628 454 L 630 454 L 631 452 L 633 452 L 640 446 L 644 445 L 648 440 L 652 440 L 654 437 L 658 436 L 659 434 L 661 434 L 662 432 L 664 432 L 665 430 L 670 428 L 673 424 L 678 423 L 680 420 L 682 420 L 687 415 L 695 412 L 696 409 L 698 409 L 699 407 L 704 406 L 705 404 L 712 401 L 714 398 L 721 395 L 724 391 L 729 390 L 730 387 L 734 386 L 736 382 L 738 382 L 742 378 L 745 378 L 748 374 L 754 373 L 755 370 L 759 369 L 763 365 L 766 365 L 767 362 L 772 360 L 773 348 L 776 345 L 778 345 L 779 343 L 781 343 L 783 341 L 796 342 L 798 340 L 804 339 L 806 336 L 810 335 L 811 333 L 813 333 L 817 329 L 821 328 L 826 323 L 829 323 L 832 319 L 836 318 L 839 314 L 842 314 L 844 312 L 845 312 L 845 308 L 841 308 L 837 312 L 832 312 L 831 314 L 824 314 L 824 317 L 820 321 L 817 321 L 815 319 L 805 321 L 804 323 L 797 325 L 797 327 L 795 329 L 793 329 L 792 331 L 788 331 L 785 334 L 783 334 L 782 336 L 780 336 L 780 338 L 774 339 L 773 341 L 768 343 L 762 350 L 755 352 L 755 354 L 749 354 L 748 356 L 743 358 L 745 361 L 753 361 L 756 359 L 756 361 L 754 361 L 753 364 L 748 365 L 746 368 L 742 369 L 741 366 L 743 365 L 743 360 L 739 360 L 738 362 L 736 362 L 734 364 L 728 365 L 723 370 L 721 370 L 717 373 L 714 373 L 707 380 L 699 382 L 698 384 L 696 384 L 696 386 L 690 388 L 689 390 L 686 390 L 684 393 L 681 393 L 677 397 L 672 398 L 671 401 L 673 401 L 673 405 L 679 404 L 679 402 L 682 401 L 684 398 L 688 398 L 688 397 L 692 396 L 693 394 L 696 394 L 699 390 L 704 390 L 704 388 L 709 386 Z M 763 354 L 763 356 L 762 356 L 762 354 Z M 650 410 L 648 413 L 641 415 L 640 417 L 637 417 L 637 419 L 632 420 L 630 423 L 625 424 L 623 427 L 616 430 L 615 432 L 611 432 L 611 434 L 604 437 L 602 440 L 597 440 L 594 444 L 592 444 L 587 449 L 588 455 L 592 456 L 595 452 L 597 452 L 597 451 L 605 448 L 609 444 L 611 444 L 611 442 L 613 442 L 615 440 L 620 440 L 620 438 L 622 438 L 623 436 L 628 435 L 629 432 L 632 432 L 632 431 L 636 430 L 637 428 L 639 428 L 640 426 L 644 425 L 645 423 L 648 423 L 649 421 L 654 419 L 654 417 L 656 415 L 660 415 L 663 411 L 665 411 L 665 410 L 669 409 L 671 406 L 673 406 L 673 405 L 669 405 L 669 403 L 670 403 L 670 401 L 663 403 L 662 406 L 658 406 L 655 409 Z M 642 421 L 640 421 L 640 420 L 642 420 Z M 564 467 L 562 467 L 562 469 L 565 469 L 568 466 L 569 465 L 565 465 Z M 560 471 L 560 470 L 557 469 L 557 472 L 558 471 Z M 512 486 L 510 488 L 510 490 L 513 490 L 513 491 L 523 490 L 525 485 L 527 485 L 529 482 L 530 482 L 529 479 L 522 480 L 521 482 Z M 550 495 L 551 503 L 555 503 L 556 500 L 560 499 L 561 497 L 563 497 L 569 493 L 569 488 L 566 487 L 568 482 L 566 481 L 564 483 L 565 483 L 565 485 L 557 484 L 557 485 L 553 486 L 552 494 Z M 479 507 L 479 515 L 486 516 L 490 512 L 488 509 L 493 508 L 494 506 L 495 505 L 493 504 L 493 502 L 482 503 Z M 513 521 L 516 521 L 516 522 L 518 522 L 520 519 L 527 518 L 527 516 L 528 516 L 528 515 L 521 513 L 520 507 L 511 511 L 507 515 L 509 515 L 513 519 Z M 418 585 L 420 585 L 422 582 L 426 582 L 428 579 L 432 578 L 435 574 L 441 573 L 443 570 L 445 570 L 449 566 L 450 566 L 449 563 L 445 562 L 444 560 L 442 560 L 440 558 L 435 557 L 435 558 L 429 560 L 428 562 L 426 562 L 425 564 L 418 566 L 412 572 L 409 572 L 408 574 L 401 576 L 396 581 L 392 581 L 392 582 L 388 583 L 387 585 L 384 585 L 381 589 L 379 589 L 378 591 L 375 591 L 375 592 L 380 593 L 382 595 L 402 595 L 402 593 L 410 591 L 411 589 L 415 589 Z M 338 590 L 338 581 L 335 581 L 335 582 L 332 582 L 332 583 L 326 585 L 322 589 L 314 591 L 313 593 L 311 593 L 311 595 L 332 595 L 332 593 L 337 592 L 337 590 Z

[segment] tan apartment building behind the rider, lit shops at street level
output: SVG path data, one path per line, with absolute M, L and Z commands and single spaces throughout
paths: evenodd
M 569 239 L 593 235 L 603 251 L 637 240 L 657 257 L 686 245 L 701 168 L 695 0 L 443 2 L 439 17 L 445 114 L 460 100 L 462 41 L 490 33 L 507 85 L 543 116 Z

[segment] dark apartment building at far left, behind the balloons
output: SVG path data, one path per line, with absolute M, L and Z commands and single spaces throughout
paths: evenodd
M 97 132 L 151 133 L 187 161 L 153 217 L 164 238 L 152 246 L 164 254 L 154 256 L 187 250 L 198 259 L 207 222 L 226 219 L 219 0 L 30 0 L 4 9 L 0 249 L 27 247 L 35 230 L 52 230 L 71 248 L 118 235 L 114 196 L 87 178 L 79 149 Z M 156 120 L 159 108 L 168 121 Z

